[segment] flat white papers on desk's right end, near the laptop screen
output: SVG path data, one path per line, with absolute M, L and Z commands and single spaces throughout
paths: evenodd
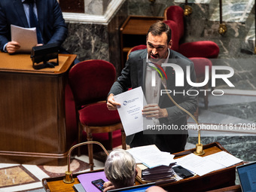
M 176 162 L 185 169 L 202 176 L 218 169 L 233 166 L 236 163 L 242 162 L 242 160 L 234 157 L 232 154 L 221 151 L 206 157 L 200 157 L 196 154 L 188 154 L 185 157 L 176 159 Z

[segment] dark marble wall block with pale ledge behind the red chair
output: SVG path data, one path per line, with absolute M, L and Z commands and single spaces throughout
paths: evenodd
M 93 1 L 93 4 L 95 5 L 96 2 L 97 1 Z M 97 3 L 100 2 L 102 1 L 98 1 Z M 104 2 L 106 1 L 104 0 Z M 87 8 L 89 7 L 90 6 Z M 68 21 L 66 20 L 69 35 L 66 41 L 64 41 L 63 47 L 65 47 L 69 53 L 77 54 L 80 61 L 87 59 L 107 60 L 114 64 L 117 75 L 119 75 L 121 70 L 119 29 L 128 16 L 126 7 L 127 2 L 121 2 L 116 11 L 111 10 L 113 14 L 105 21 L 105 17 L 97 17 L 96 15 L 103 13 L 96 13 L 93 8 L 90 9 L 91 21 L 90 15 L 88 16 L 88 14 L 88 17 L 76 14 L 81 18 L 72 21 L 72 18 L 70 18 L 69 15 L 66 16 L 64 13 L 64 18 L 65 16 L 69 18 Z M 104 11 L 104 14 L 106 14 L 106 11 Z M 74 16 L 76 15 L 74 14 Z M 84 17 L 84 20 L 82 17 Z M 99 19 L 101 20 L 99 21 Z

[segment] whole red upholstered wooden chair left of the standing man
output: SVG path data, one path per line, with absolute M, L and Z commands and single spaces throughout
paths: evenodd
M 69 71 L 69 84 L 75 99 L 78 120 L 78 142 L 83 130 L 87 141 L 93 133 L 108 133 L 112 148 L 112 132 L 122 130 L 122 147 L 126 148 L 125 135 L 117 111 L 109 111 L 106 104 L 108 92 L 115 81 L 114 66 L 105 60 L 91 59 L 79 62 Z M 78 155 L 80 154 L 78 148 Z M 93 169 L 93 145 L 88 145 L 90 169 Z

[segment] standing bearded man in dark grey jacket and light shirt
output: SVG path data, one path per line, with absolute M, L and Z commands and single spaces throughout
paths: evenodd
M 171 36 L 171 29 L 169 29 L 166 23 L 154 23 L 148 30 L 147 49 L 136 50 L 130 53 L 125 68 L 109 92 L 108 109 L 116 110 L 117 105 L 120 105 L 120 103 L 114 101 L 114 95 L 123 93 L 130 87 L 142 87 L 148 103 L 148 105 L 144 106 L 142 114 L 146 117 L 154 117 L 156 119 L 155 125 L 174 128 L 163 132 L 156 130 L 153 134 L 147 134 L 145 131 L 144 133 L 140 132 L 127 136 L 126 143 L 132 148 L 154 144 L 161 151 L 175 153 L 183 151 L 186 145 L 188 135 L 187 130 L 183 129 L 183 126 L 187 125 L 187 114 L 174 105 L 167 94 L 160 94 L 160 92 L 165 89 L 164 85 L 167 90 L 171 90 L 172 93 L 170 95 L 178 105 L 181 105 L 182 108 L 190 111 L 190 113 L 194 113 L 197 108 L 197 96 L 195 94 L 194 96 L 187 94 L 187 91 L 189 92 L 194 89 L 194 87 L 187 83 L 187 67 L 190 69 L 189 76 L 192 82 L 196 82 L 196 75 L 193 62 L 180 53 L 170 50 L 172 47 Z M 162 66 L 162 63 L 174 63 L 183 69 L 183 86 L 175 86 L 175 75 L 177 75 L 177 72 L 170 66 L 163 67 L 167 76 L 166 81 L 162 81 L 156 75 L 155 85 L 151 86 L 151 74 L 157 66 Z M 175 130 L 177 128 L 178 130 Z

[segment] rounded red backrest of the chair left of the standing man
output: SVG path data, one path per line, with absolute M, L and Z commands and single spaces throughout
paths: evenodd
M 79 62 L 69 72 L 69 82 L 77 106 L 105 101 L 115 80 L 114 66 L 100 59 Z

